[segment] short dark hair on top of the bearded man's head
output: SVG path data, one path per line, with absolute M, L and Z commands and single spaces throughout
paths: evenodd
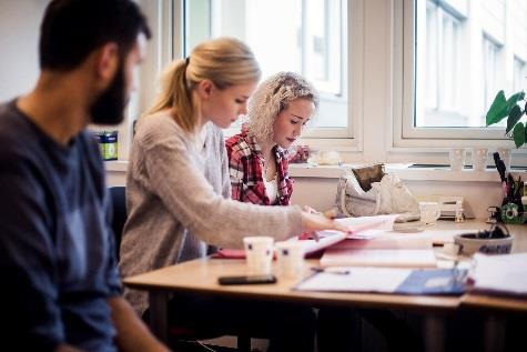
M 53 0 L 40 28 L 40 68 L 68 71 L 108 42 L 118 44 L 122 59 L 140 32 L 151 36 L 132 0 Z

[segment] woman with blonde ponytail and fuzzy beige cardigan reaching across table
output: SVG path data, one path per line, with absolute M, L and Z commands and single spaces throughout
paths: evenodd
M 284 240 L 303 230 L 345 230 L 297 207 L 259 207 L 230 199 L 221 129 L 246 113 L 260 76 L 251 50 L 229 38 L 197 46 L 168 70 L 159 100 L 138 121 L 132 144 L 126 179 L 129 219 L 121 243 L 124 276 L 204 257 L 212 247 L 240 248 L 247 234 Z M 125 289 L 124 295 L 145 316 L 146 293 Z M 171 310 L 189 324 L 197 324 L 195 316 L 203 322 L 203 314 L 211 324 L 219 316 L 261 319 L 255 318 L 257 306 L 243 308 L 243 302 L 233 309 L 224 300 L 195 300 L 176 296 Z M 261 310 L 268 312 L 263 305 Z M 282 318 L 292 316 L 295 314 Z

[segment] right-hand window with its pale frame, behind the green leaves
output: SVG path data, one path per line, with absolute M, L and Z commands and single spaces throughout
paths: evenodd
M 394 102 L 394 147 L 508 143 L 503 127 L 485 127 L 485 113 L 500 89 L 509 95 L 521 87 L 524 1 L 404 0 L 394 7 L 394 97 L 402 97 L 401 108 Z

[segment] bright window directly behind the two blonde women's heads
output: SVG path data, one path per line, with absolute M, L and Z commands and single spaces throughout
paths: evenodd
M 288 70 L 317 88 L 321 104 L 311 137 L 351 137 L 347 1 L 193 0 L 185 4 L 186 52 L 206 38 L 243 40 L 254 51 L 264 79 Z

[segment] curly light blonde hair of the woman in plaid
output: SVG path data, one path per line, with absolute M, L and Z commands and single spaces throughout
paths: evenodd
M 261 143 L 273 140 L 276 117 L 295 99 L 307 99 L 318 108 L 318 92 L 302 76 L 278 72 L 263 81 L 249 100 L 246 128 Z

